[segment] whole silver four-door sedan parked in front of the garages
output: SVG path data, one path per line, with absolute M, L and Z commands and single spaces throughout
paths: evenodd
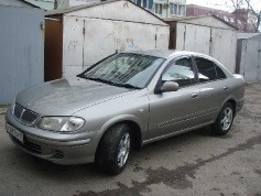
M 12 142 L 32 155 L 119 174 L 131 148 L 205 126 L 226 134 L 243 101 L 242 76 L 207 55 L 137 51 L 21 91 L 6 121 Z

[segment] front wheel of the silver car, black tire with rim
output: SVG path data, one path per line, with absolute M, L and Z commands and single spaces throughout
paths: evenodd
M 131 146 L 131 130 L 127 124 L 116 124 L 108 129 L 98 150 L 98 165 L 105 172 L 117 175 L 128 162 Z

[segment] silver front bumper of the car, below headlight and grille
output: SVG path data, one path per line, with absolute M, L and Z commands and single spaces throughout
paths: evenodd
M 6 113 L 6 121 L 24 137 L 21 142 L 9 134 L 12 142 L 34 156 L 65 165 L 95 161 L 99 141 L 97 132 L 57 133 L 26 127 L 17 121 L 11 109 Z

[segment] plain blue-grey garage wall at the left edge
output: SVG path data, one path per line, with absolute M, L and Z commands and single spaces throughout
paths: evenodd
M 0 6 L 0 105 L 43 83 L 43 10 Z

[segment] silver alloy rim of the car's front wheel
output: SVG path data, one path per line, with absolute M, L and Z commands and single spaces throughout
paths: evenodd
M 130 152 L 130 134 L 124 133 L 120 140 L 118 153 L 118 166 L 123 166 L 127 162 Z

